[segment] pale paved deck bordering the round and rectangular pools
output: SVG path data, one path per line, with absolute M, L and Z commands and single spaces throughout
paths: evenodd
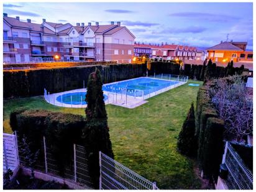
M 125 80 L 128 81 L 128 80 Z M 171 80 L 167 80 L 171 81 Z M 116 83 L 116 82 L 114 82 Z M 107 83 L 104 85 L 111 85 L 113 83 Z M 175 85 L 168 86 L 166 88 L 160 89 L 158 91 L 155 91 L 153 93 L 145 94 L 144 96 L 130 96 L 128 94 L 121 94 L 121 93 L 113 93 L 111 91 L 103 91 L 103 94 L 106 94 L 107 99 L 105 101 L 105 104 L 113 104 L 116 106 L 126 107 L 129 109 L 134 109 L 135 107 L 138 107 L 142 104 L 147 103 L 145 99 L 152 98 L 153 96 L 156 96 L 158 94 L 164 93 L 165 91 L 168 91 L 170 89 L 176 88 L 178 86 L 184 85 L 186 82 L 179 81 L 179 83 L 176 83 Z M 87 104 L 65 104 L 57 101 L 57 97 L 66 94 L 66 93 L 77 93 L 77 92 L 86 92 L 86 88 L 82 89 L 73 89 L 70 91 L 64 91 L 61 93 L 53 93 L 53 94 L 46 94 L 45 93 L 45 101 L 47 103 L 53 104 L 55 106 L 59 107 L 70 107 L 70 108 L 85 108 Z

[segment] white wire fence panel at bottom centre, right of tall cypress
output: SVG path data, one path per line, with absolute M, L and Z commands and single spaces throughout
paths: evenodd
M 100 190 L 159 190 L 156 183 L 145 179 L 121 163 L 99 152 Z

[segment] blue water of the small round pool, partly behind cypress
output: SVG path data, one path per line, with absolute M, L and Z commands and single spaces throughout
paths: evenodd
M 57 97 L 57 101 L 60 103 L 71 104 L 71 96 L 72 96 L 72 104 L 87 104 L 85 101 L 86 92 L 77 92 L 77 93 L 66 93 L 62 94 L 62 96 Z M 104 94 L 104 101 L 106 101 L 107 96 Z

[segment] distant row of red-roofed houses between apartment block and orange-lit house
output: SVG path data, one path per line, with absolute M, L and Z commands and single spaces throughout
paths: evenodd
M 165 60 L 194 60 L 196 59 L 197 48 L 185 45 L 168 45 L 167 43 L 165 45 L 163 45 L 163 43 L 162 45 L 134 44 L 135 56 L 137 55 L 137 57 L 139 57 L 140 55 L 144 55 L 144 52 L 149 52 L 152 58 L 162 58 Z

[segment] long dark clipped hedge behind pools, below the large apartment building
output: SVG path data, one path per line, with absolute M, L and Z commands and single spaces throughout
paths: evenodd
M 145 76 L 145 64 L 94 65 L 70 68 L 48 68 L 38 70 L 4 71 L 4 98 L 37 96 L 43 89 L 58 93 L 83 88 L 88 76 L 99 68 L 103 83 Z

